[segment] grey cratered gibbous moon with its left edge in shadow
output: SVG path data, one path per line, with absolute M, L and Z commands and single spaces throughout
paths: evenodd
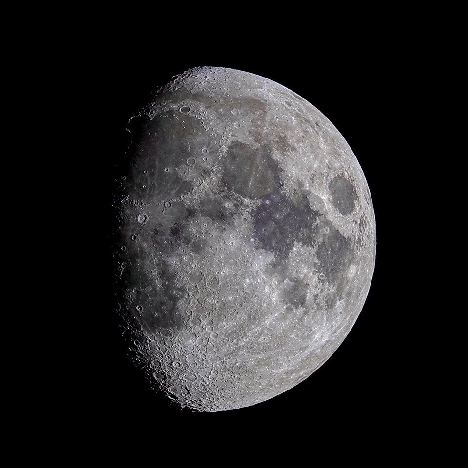
M 208 412 L 309 377 L 351 330 L 375 264 L 345 139 L 284 86 L 218 67 L 173 77 L 127 132 L 113 256 L 137 365 Z

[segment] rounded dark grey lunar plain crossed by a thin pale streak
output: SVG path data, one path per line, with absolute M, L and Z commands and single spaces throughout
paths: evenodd
M 223 165 L 227 187 L 245 198 L 261 198 L 272 192 L 279 181 L 279 168 L 267 144 L 256 149 L 234 141 L 228 147 Z

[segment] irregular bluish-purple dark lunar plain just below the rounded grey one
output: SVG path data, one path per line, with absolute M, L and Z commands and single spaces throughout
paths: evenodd
M 307 200 L 306 194 L 303 197 Z M 295 241 L 312 242 L 307 234 L 320 215 L 308 203 L 296 206 L 279 189 L 275 189 L 263 197 L 252 214 L 254 239 L 259 248 L 273 252 L 275 259 L 281 262 L 289 256 Z

